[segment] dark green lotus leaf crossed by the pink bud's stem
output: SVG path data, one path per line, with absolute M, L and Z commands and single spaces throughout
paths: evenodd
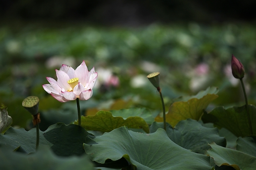
M 251 122 L 256 122 L 256 108 L 253 105 L 248 105 Z M 237 137 L 250 135 L 249 123 L 245 106 L 230 107 L 224 109 L 219 106 L 211 112 L 204 113 L 202 116 L 204 123 L 214 123 L 215 126 L 223 127 L 231 131 Z M 252 123 L 253 134 L 256 135 L 256 123 Z

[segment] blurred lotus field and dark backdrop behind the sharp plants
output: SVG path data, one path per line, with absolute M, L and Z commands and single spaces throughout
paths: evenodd
M 181 95 L 219 87 L 208 108 L 244 104 L 231 74 L 234 54 L 245 66 L 249 103 L 256 102 L 255 1 L 0 1 L 0 103 L 13 126 L 31 129 L 21 106 L 38 96 L 41 130 L 77 118 L 76 102 L 47 94 L 46 77 L 85 60 L 98 72 L 94 95 L 81 101 L 83 114 L 146 107 L 161 112 L 160 96 L 146 75 L 160 72 L 166 107 Z M 114 81 L 115 80 L 115 81 Z

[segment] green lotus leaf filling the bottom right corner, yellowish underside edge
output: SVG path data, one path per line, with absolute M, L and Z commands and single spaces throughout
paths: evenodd
M 228 165 L 236 170 L 255 170 L 256 157 L 234 149 L 218 146 L 215 143 L 209 145 L 211 149 L 206 151 L 205 154 L 212 157 L 217 166 Z

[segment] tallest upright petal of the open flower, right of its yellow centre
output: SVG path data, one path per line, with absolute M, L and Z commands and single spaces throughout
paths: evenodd
M 87 66 L 83 60 L 83 62 L 75 69 L 74 77 L 77 77 L 79 79 L 79 82 L 83 85 L 86 84 L 88 81 L 88 74 L 89 71 L 87 69 Z

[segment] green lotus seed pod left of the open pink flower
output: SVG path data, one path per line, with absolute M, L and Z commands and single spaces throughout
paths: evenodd
M 38 112 L 39 98 L 37 96 L 28 96 L 22 102 L 22 106 L 28 110 L 32 115 Z

